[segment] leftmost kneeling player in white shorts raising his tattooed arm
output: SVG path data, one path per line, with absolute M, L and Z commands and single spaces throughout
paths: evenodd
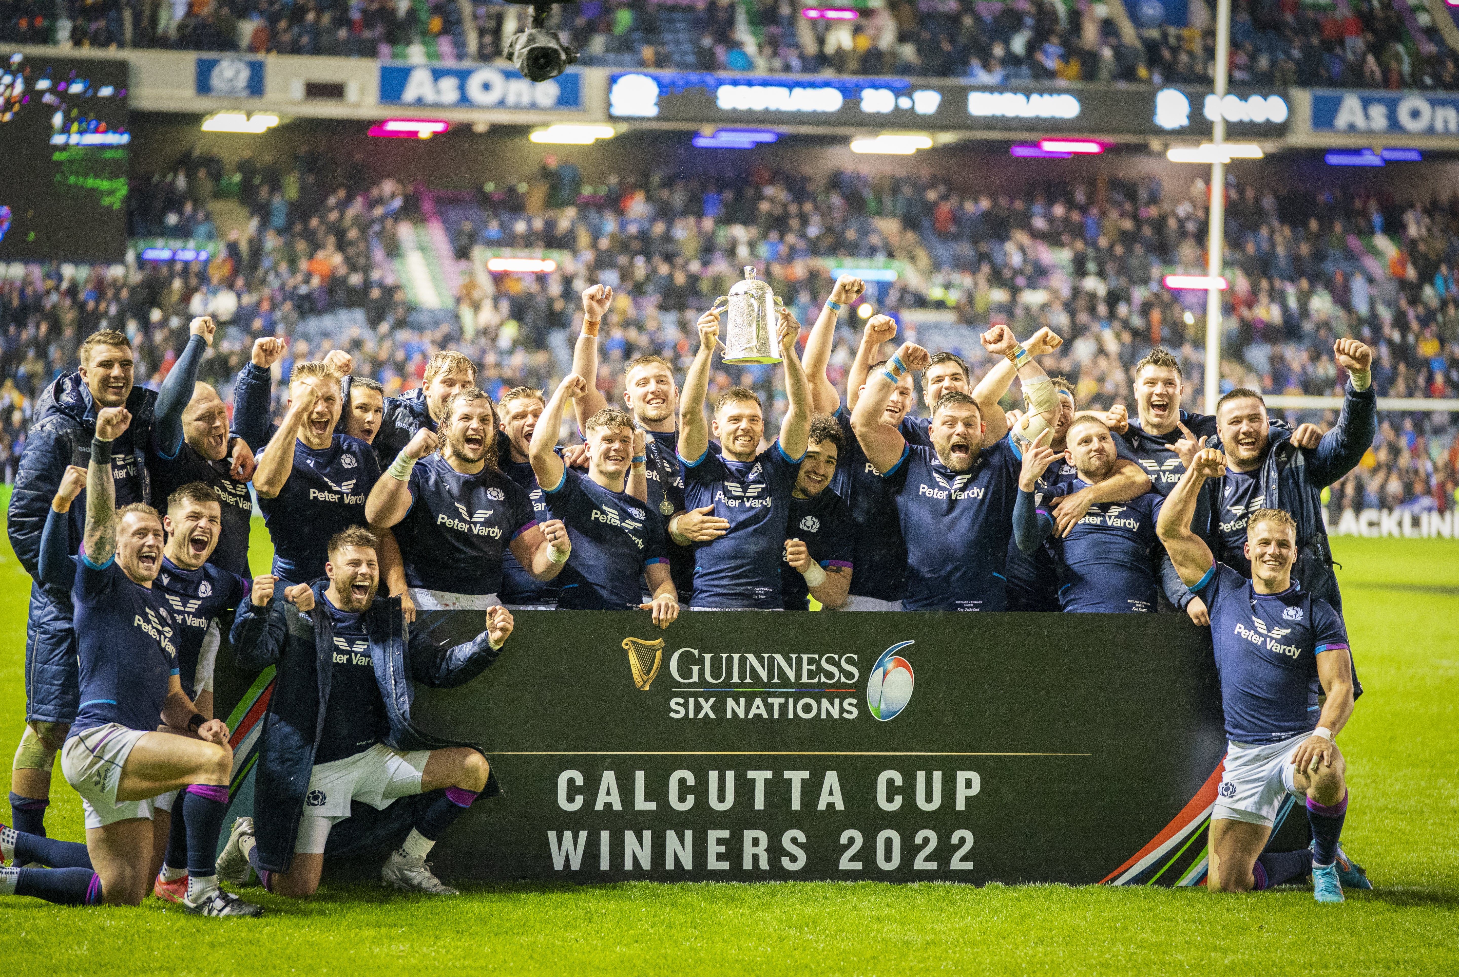
M 54 866 L 0 869 L 0 894 L 137 905 L 152 882 L 153 799 L 181 787 L 174 808 L 187 822 L 181 905 L 201 916 L 258 916 L 257 905 L 217 888 L 213 854 L 233 752 L 228 726 L 204 720 L 178 678 L 177 622 L 153 587 L 163 568 L 162 520 L 150 505 L 115 508 L 111 444 L 130 421 L 124 407 L 96 415 L 85 551 L 71 586 L 82 705 L 61 770 L 82 796 L 86 844 L 0 828 L 0 856 Z M 155 732 L 158 716 L 169 732 Z

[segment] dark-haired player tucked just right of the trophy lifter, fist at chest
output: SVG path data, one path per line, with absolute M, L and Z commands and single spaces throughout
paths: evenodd
M 808 597 L 835 610 L 851 589 L 856 524 L 851 508 L 830 491 L 845 444 L 835 418 L 811 418 L 805 459 L 791 489 L 786 567 L 781 567 L 781 603 L 786 610 L 810 610 Z

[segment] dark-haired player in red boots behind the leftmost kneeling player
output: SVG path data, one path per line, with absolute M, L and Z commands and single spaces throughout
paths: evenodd
M 51 502 L 41 540 L 41 577 L 47 583 L 70 587 L 76 581 L 77 558 L 67 553 L 66 513 L 85 486 L 86 469 L 71 466 Z M 203 719 L 213 719 L 213 669 L 222 632 L 232 624 L 225 612 L 247 599 L 249 583 L 209 562 L 223 533 L 223 501 L 206 483 L 178 486 L 168 497 L 162 527 L 168 542 L 162 570 L 152 586 L 172 608 L 182 692 Z M 185 822 L 181 815 L 171 816 L 179 797 L 179 792 L 160 794 L 152 805 L 153 847 L 147 878 L 156 876 L 152 891 L 169 903 L 181 901 L 187 892 Z

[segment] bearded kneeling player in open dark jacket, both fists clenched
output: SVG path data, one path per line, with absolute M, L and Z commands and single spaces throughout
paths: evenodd
M 375 809 L 397 797 L 445 792 L 425 809 L 381 870 L 387 885 L 455 895 L 425 862 L 436 840 L 471 806 L 492 773 L 470 743 L 444 740 L 410 721 L 410 682 L 435 688 L 480 675 L 512 632 L 505 608 L 486 610 L 486 631 L 455 647 L 407 631 L 400 597 L 379 597 L 378 540 L 353 526 L 328 543 L 324 581 L 298 608 L 274 600 L 273 577 L 254 580 L 233 622 L 244 669 L 277 667 L 264 717 L 254 816 L 233 822 L 219 873 L 303 898 L 320 888 L 330 830 L 350 802 Z M 308 616 L 306 616 L 308 615 Z M 322 714 L 322 716 L 321 716 Z M 493 784 L 495 787 L 495 784 Z

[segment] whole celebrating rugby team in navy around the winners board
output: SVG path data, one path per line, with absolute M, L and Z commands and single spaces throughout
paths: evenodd
M 426 856 L 496 780 L 479 745 L 413 724 L 411 682 L 479 675 L 518 610 L 646 610 L 668 628 L 684 606 L 811 599 L 837 612 L 1183 610 L 1211 628 L 1231 740 L 1210 888 L 1309 873 L 1322 901 L 1367 888 L 1338 846 L 1334 737 L 1361 686 L 1319 495 L 1373 440 L 1370 350 L 1338 340 L 1347 400 L 1320 434 L 1269 422 L 1250 390 L 1215 416 L 1182 410 L 1180 364 L 1158 348 L 1135 369 L 1138 416 L 1081 413 L 1039 367 L 1062 342 L 1049 330 L 983 333 L 999 359 L 975 384 L 950 352 L 907 342 L 884 358 L 897 326 L 877 315 L 842 403 L 826 371 L 839 313 L 864 288 L 836 282 L 804 355 L 782 311 L 788 403 L 767 448 L 753 391 L 731 387 L 705 415 L 716 311 L 697 323 L 683 390 L 643 356 L 626 365 L 626 409 L 610 406 L 594 383 L 603 285 L 582 294 L 573 371 L 550 396 L 518 387 L 498 403 L 457 352 L 385 397 L 336 350 L 293 367 L 274 424 L 286 340 L 266 337 L 233 386 L 231 426 L 196 380 L 212 320 L 191 323 L 159 391 L 134 386 L 124 334 L 89 336 L 79 369 L 36 405 L 10 501 L 34 586 L 0 895 L 139 904 L 150 886 L 190 913 L 257 916 L 219 879 L 308 897 L 327 850 L 376 835 L 391 840 L 385 884 L 452 894 Z M 1015 377 L 1024 405 L 1005 413 Z M 569 405 L 582 444 L 560 448 Z M 248 567 L 255 499 L 274 546 L 261 575 Z M 445 609 L 480 612 L 483 631 L 446 647 L 411 629 L 419 610 Z M 219 853 L 233 773 L 213 716 L 220 648 L 277 672 L 254 813 Z M 57 754 L 85 844 L 45 834 Z M 1313 843 L 1268 853 L 1288 793 L 1306 797 Z M 350 818 L 353 802 L 398 816 Z

